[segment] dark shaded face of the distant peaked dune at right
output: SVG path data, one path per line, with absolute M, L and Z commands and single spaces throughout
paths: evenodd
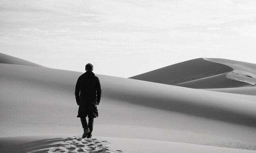
M 234 63 L 236 63 L 236 61 L 234 61 Z M 230 79 L 229 77 L 226 77 L 227 74 L 234 71 L 234 68 L 225 63 L 213 62 L 200 58 L 139 74 L 130 77 L 130 79 L 190 88 L 252 86 L 252 83 L 249 81 L 241 82 L 239 79 Z M 245 71 L 247 71 L 247 69 L 245 69 Z

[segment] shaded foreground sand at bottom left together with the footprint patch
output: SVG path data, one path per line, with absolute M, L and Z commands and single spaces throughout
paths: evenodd
M 50 136 L 49 136 L 50 137 Z M 39 139 L 39 140 L 38 140 Z M 40 138 L 40 137 L 9 137 L 0 138 L 1 152 L 19 153 L 122 153 L 120 150 L 110 148 L 110 142 L 101 138 L 83 139 L 79 137 L 69 138 Z M 8 143 L 9 142 L 9 143 Z M 13 143 L 14 142 L 14 143 Z M 13 146 L 15 146 L 13 149 Z

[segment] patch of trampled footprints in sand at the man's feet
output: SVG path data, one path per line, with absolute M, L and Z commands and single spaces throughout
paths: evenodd
M 48 143 L 28 153 L 123 153 L 121 150 L 112 150 L 107 146 L 110 142 L 94 138 L 57 138 L 45 142 Z

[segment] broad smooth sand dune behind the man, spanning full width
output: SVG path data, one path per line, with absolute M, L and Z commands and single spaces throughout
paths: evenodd
M 74 86 L 81 72 L 7 63 L 1 63 L 0 68 L 0 137 L 14 136 L 17 141 L 17 136 L 39 136 L 36 140 L 51 136 L 59 142 L 64 138 L 78 139 L 70 136 L 80 136 L 83 132 L 76 118 L 78 107 L 74 98 Z M 254 150 L 256 146 L 255 96 L 97 76 L 103 95 L 93 136 L 112 137 L 107 139 L 112 151 L 134 149 L 133 143 L 122 146 L 121 142 L 129 139 L 141 144 L 140 152 L 145 153 L 148 152 L 145 143 L 161 146 L 166 153 L 177 151 L 177 146 L 186 148 L 182 153 L 191 149 L 250 152 L 240 149 Z M 59 136 L 67 137 L 56 139 Z M 1 138 L 1 144 L 6 139 Z M 77 147 L 72 149 L 79 152 Z

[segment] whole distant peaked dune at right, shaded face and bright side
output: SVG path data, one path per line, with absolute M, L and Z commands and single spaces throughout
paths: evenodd
M 255 69 L 252 63 L 200 58 L 130 78 L 198 89 L 246 87 L 256 83 Z

